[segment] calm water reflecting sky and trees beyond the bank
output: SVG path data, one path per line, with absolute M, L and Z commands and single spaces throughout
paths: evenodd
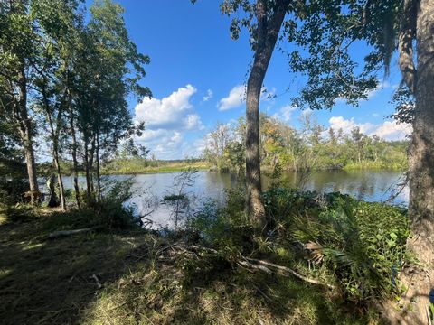
M 134 204 L 139 215 L 154 222 L 154 227 L 172 227 L 175 219 L 175 205 L 164 200 L 165 195 L 178 192 L 175 180 L 179 173 L 157 173 L 134 176 L 135 196 L 129 204 Z M 109 176 L 109 179 L 127 179 L 130 176 Z M 303 175 L 290 172 L 283 177 L 283 185 L 294 187 L 300 184 Z M 84 179 L 80 178 L 84 187 Z M 359 200 L 387 201 L 399 188 L 403 181 L 401 172 L 392 171 L 354 171 L 354 172 L 314 172 L 306 181 L 301 181 L 304 190 L 319 192 L 340 191 L 353 195 Z M 72 178 L 65 177 L 65 187 L 72 188 Z M 218 172 L 198 172 L 194 176 L 193 185 L 186 187 L 190 198 L 188 207 L 178 206 L 180 214 L 193 213 L 203 206 L 204 201 L 212 199 L 222 204 L 225 200 L 225 189 L 231 189 L 237 184 L 237 179 L 231 174 Z M 264 177 L 263 187 L 266 189 L 269 179 Z M 407 204 L 409 190 L 405 187 L 393 200 L 394 204 Z

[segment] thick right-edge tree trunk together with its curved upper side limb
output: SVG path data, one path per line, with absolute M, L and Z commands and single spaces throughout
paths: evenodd
M 434 289 L 434 2 L 407 0 L 405 4 L 399 63 L 403 79 L 416 99 L 409 155 L 412 236 L 407 247 L 419 264 L 411 265 L 401 276 L 407 288 L 401 299 L 403 312 L 392 310 L 387 317 L 392 324 L 419 325 L 431 324 L 429 292 Z M 417 70 L 412 63 L 414 37 Z

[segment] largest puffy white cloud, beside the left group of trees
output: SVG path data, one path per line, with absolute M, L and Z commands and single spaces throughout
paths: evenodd
M 137 142 L 146 145 L 160 159 L 193 155 L 194 148 L 184 141 L 184 136 L 204 128 L 201 117 L 193 112 L 191 98 L 196 92 L 196 88 L 187 85 L 165 98 L 144 98 L 135 107 L 135 122 L 146 125 Z

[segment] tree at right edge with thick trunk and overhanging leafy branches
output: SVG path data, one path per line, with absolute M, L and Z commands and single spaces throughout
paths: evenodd
M 422 266 L 417 272 L 402 274 L 402 281 L 409 288 L 402 302 L 405 311 L 414 312 L 397 315 L 390 309 L 389 318 L 401 323 L 427 323 L 429 289 L 434 286 L 434 279 L 426 275 L 434 271 L 434 111 L 430 104 L 434 100 L 434 3 L 429 0 L 336 1 L 333 4 L 314 1 L 309 8 L 311 13 L 316 13 L 310 14 L 316 20 L 308 19 L 305 25 L 310 31 L 302 29 L 293 39 L 305 40 L 309 45 L 309 57 L 296 66 L 308 79 L 298 104 L 332 107 L 339 92 L 335 93 L 335 81 L 330 76 L 336 72 L 340 79 L 352 80 L 346 82 L 348 90 L 354 90 L 345 91 L 349 102 L 363 98 L 368 89 L 365 86 L 378 83 L 376 71 L 385 67 L 387 75 L 392 53 L 398 51 L 398 66 L 405 85 L 399 95 L 407 93 L 410 98 L 407 102 L 398 100 L 403 111 L 397 116 L 412 122 L 413 126 L 409 150 L 409 216 L 413 237 L 408 248 L 418 255 Z M 328 32 L 325 40 L 316 41 L 318 31 Z M 341 72 L 344 62 L 332 57 L 334 53 L 338 58 L 344 54 L 350 60 L 348 48 L 353 42 L 361 41 L 368 45 L 363 67 L 366 83 L 346 78 Z M 336 44 L 344 45 L 333 50 Z M 356 70 L 351 60 L 344 67 L 351 73 Z

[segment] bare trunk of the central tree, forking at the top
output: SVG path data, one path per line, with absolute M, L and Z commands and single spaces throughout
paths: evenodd
M 285 18 L 288 0 L 278 0 L 274 14 L 268 18 L 266 0 L 258 0 L 258 40 L 253 66 L 247 82 L 246 98 L 246 205 L 254 228 L 263 230 L 267 225 L 261 200 L 259 156 L 259 100 L 269 60 L 278 40 L 278 32 Z

